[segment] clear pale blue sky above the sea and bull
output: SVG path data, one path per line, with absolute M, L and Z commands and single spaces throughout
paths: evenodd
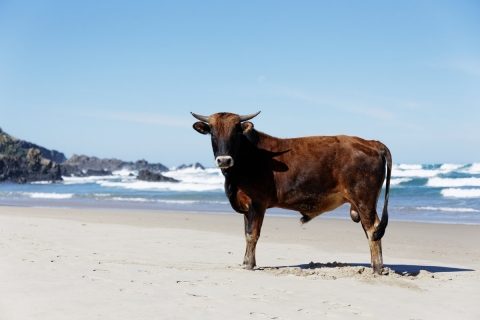
M 74 153 L 213 166 L 189 111 L 480 162 L 480 1 L 0 0 L 0 127 Z

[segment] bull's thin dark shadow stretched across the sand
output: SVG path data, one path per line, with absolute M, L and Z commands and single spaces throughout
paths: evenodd
M 365 267 L 370 268 L 369 263 L 356 263 L 356 262 L 348 262 L 343 265 L 348 265 L 350 267 Z M 417 274 L 420 270 L 425 270 L 430 273 L 440 273 L 440 272 L 468 272 L 468 271 L 476 271 L 474 269 L 463 269 L 463 268 L 453 268 L 453 267 L 443 267 L 443 266 L 425 266 L 425 265 L 416 265 L 416 264 L 384 264 L 384 267 L 390 268 L 391 270 L 395 271 L 395 273 L 403 274 Z M 334 268 L 335 266 L 328 266 L 328 264 L 322 264 L 322 268 Z M 342 267 L 342 266 L 339 266 Z M 283 268 L 300 268 L 300 269 L 312 269 L 312 265 L 310 264 L 297 264 L 291 266 L 277 266 L 275 268 L 283 269 Z

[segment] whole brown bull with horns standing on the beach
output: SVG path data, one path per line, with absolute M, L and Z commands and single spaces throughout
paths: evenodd
M 343 135 L 275 138 L 255 130 L 247 121 L 258 113 L 215 113 L 209 117 L 192 113 L 201 121 L 193 128 L 211 135 L 215 164 L 225 176 L 225 193 L 232 208 L 244 214 L 245 268 L 256 265 L 255 247 L 267 208 L 298 211 L 306 223 L 348 202 L 352 220 L 362 222 L 372 268 L 379 273 L 392 168 L 388 148 L 378 141 Z M 376 207 L 385 175 L 380 221 Z

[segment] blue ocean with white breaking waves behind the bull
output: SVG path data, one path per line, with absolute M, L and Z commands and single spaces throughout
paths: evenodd
M 228 203 L 224 178 L 217 168 L 162 173 L 180 183 L 139 181 L 130 174 L 136 172 L 63 177 L 64 181 L 58 183 L 1 183 L 0 205 L 238 214 Z M 379 214 L 384 191 L 378 203 Z M 277 208 L 268 209 L 267 215 L 300 218 L 297 212 Z M 321 218 L 350 219 L 349 205 Z M 395 164 L 389 220 L 480 225 L 480 163 Z

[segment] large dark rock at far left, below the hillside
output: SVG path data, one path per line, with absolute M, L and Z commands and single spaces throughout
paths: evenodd
M 0 155 L 0 181 L 27 183 L 62 180 L 60 166 L 42 157 L 37 148 L 30 148 L 25 157 Z

